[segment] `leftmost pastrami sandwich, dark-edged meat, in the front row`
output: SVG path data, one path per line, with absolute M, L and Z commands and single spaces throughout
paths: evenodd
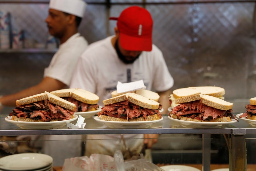
M 16 108 L 9 116 L 16 121 L 59 121 L 72 119 L 75 108 L 75 104 L 44 92 L 16 100 Z

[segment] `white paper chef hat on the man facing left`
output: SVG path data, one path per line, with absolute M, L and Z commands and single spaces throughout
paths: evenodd
M 86 3 L 84 0 L 50 0 L 49 8 L 83 18 Z

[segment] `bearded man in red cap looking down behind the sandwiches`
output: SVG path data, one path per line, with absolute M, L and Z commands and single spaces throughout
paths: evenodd
M 148 90 L 158 92 L 163 113 L 167 113 L 168 96 L 174 81 L 162 52 L 152 44 L 153 20 L 150 13 L 144 8 L 131 6 L 118 18 L 110 19 L 117 20 L 115 35 L 88 46 L 78 60 L 70 87 L 80 87 L 97 94 L 100 97 L 98 104 L 103 106 L 102 100 L 111 98 L 118 81 L 143 80 Z M 143 135 L 123 137 L 133 155 L 141 152 Z M 119 140 L 102 140 L 115 138 Z M 123 148 L 119 135 L 87 135 L 87 139 L 87 156 L 91 153 L 114 155 L 115 149 Z M 156 139 L 144 140 L 148 148 L 155 142 Z

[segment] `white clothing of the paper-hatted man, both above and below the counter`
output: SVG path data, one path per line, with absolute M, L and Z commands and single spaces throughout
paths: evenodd
M 69 86 L 77 60 L 87 46 L 87 41 L 79 33 L 72 35 L 60 45 L 50 65 L 45 68 L 44 77 L 57 79 Z M 42 151 L 52 156 L 55 166 L 62 166 L 66 158 L 81 156 L 81 135 L 48 135 L 43 138 L 47 141 L 43 141 Z

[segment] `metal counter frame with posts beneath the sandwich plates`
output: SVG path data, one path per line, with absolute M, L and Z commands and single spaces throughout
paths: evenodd
M 10 129 L 13 125 L 4 121 L 0 116 L 0 136 L 19 136 L 19 135 L 88 135 L 88 134 L 202 134 L 203 138 L 203 171 L 210 171 L 210 146 L 211 134 L 223 134 L 229 148 L 229 169 L 232 171 L 246 171 L 246 134 L 256 134 L 256 129 L 250 127 L 245 121 L 239 120 L 227 128 L 213 129 L 192 129 L 192 128 L 171 128 L 170 119 L 163 116 L 162 128 L 148 129 L 52 129 L 52 130 L 21 130 Z M 3 123 L 4 122 L 4 123 Z

